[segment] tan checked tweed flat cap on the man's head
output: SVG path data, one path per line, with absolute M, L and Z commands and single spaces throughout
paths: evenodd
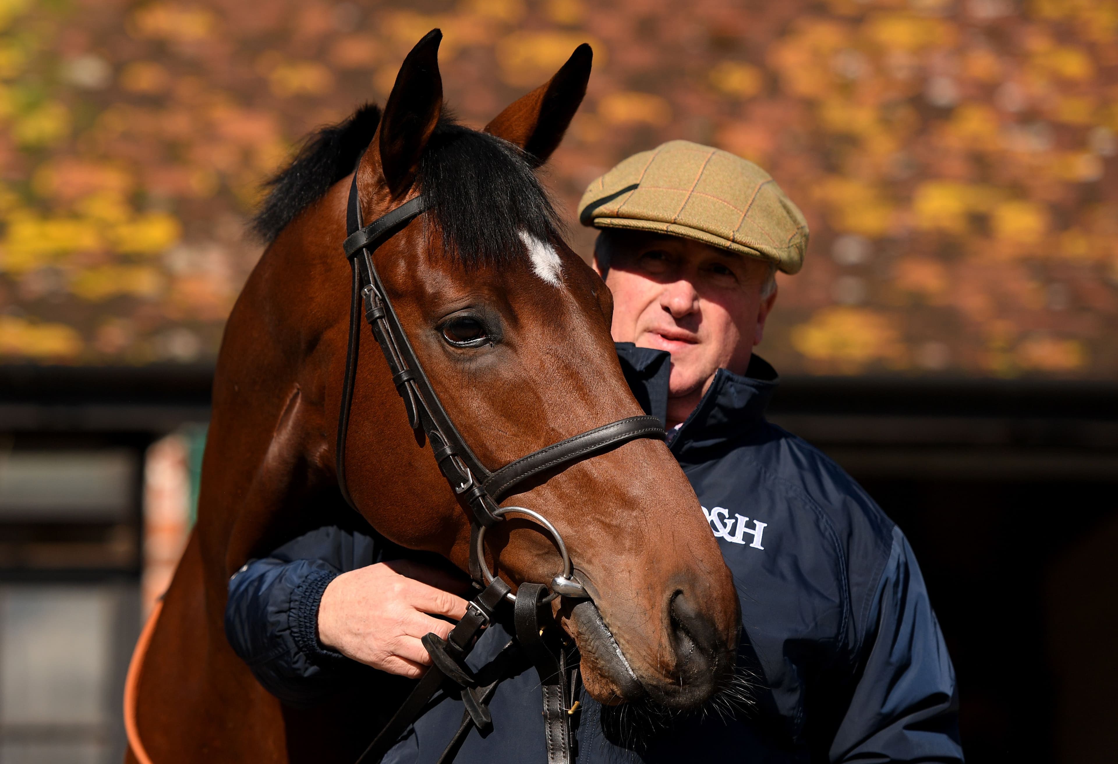
M 807 248 L 803 213 L 765 170 L 690 141 L 642 151 L 591 182 L 578 219 L 697 239 L 785 273 L 799 271 Z

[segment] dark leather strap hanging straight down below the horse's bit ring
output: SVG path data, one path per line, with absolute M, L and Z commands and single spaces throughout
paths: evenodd
M 542 584 L 521 584 L 517 589 L 513 621 L 517 640 L 540 675 L 548 764 L 571 764 L 567 667 L 563 664 L 562 644 L 540 625 L 540 604 L 546 594 L 547 587 Z

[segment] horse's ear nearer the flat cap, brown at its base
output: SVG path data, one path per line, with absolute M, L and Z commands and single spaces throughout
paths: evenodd
M 586 43 L 575 48 L 556 76 L 498 114 L 485 132 L 515 143 L 538 166 L 548 161 L 582 103 L 593 57 Z

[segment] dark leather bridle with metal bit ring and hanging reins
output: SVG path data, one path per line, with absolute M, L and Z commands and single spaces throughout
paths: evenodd
M 423 638 L 423 643 L 432 657 L 432 669 L 424 675 L 404 706 L 364 752 L 359 764 L 379 762 L 408 725 L 421 715 L 435 692 L 446 685 L 456 687 L 465 706 L 465 714 L 462 727 L 440 761 L 451 761 L 454 757 L 470 726 L 476 726 L 482 732 L 492 726 L 486 704 L 500 679 L 487 685 L 480 683 L 479 676 L 465 666 L 464 659 L 482 629 L 489 625 L 502 600 L 511 601 L 515 605 L 514 623 L 520 645 L 510 643 L 501 654 L 511 654 L 510 650 L 515 652 L 519 648 L 540 672 L 548 733 L 548 760 L 551 764 L 562 764 L 570 761 L 567 717 L 572 709 L 567 707 L 565 681 L 567 668 L 561 645 L 557 647 L 555 635 L 544 634 L 540 621 L 550 616 L 550 609 L 544 609 L 543 605 L 557 596 L 588 598 L 589 595 L 582 584 L 575 578 L 567 547 L 555 526 L 534 510 L 500 507 L 499 502 L 530 478 L 544 473 L 553 474 L 576 462 L 633 440 L 644 437 L 662 440 L 664 428 L 660 419 L 654 416 L 631 416 L 553 443 L 498 470 L 490 471 L 482 464 L 443 408 L 400 326 L 372 262 L 372 253 L 378 246 L 426 210 L 426 201 L 421 196 L 417 196 L 362 227 L 357 172 L 353 173 L 347 211 L 348 237 L 343 244 L 345 256 L 352 265 L 353 290 L 345 376 L 338 422 L 338 483 L 342 496 L 354 506 L 345 484 L 345 437 L 357 378 L 360 314 L 363 305 L 364 319 L 380 345 L 385 360 L 388 361 L 392 384 L 404 399 L 408 423 L 417 436 L 423 433 L 430 443 L 443 477 L 470 507 L 472 515 L 470 575 L 481 592 L 470 603 L 465 617 L 452 630 L 447 640 L 442 640 L 433 633 Z M 501 578 L 494 577 L 485 565 L 485 529 L 501 522 L 510 513 L 532 518 L 555 540 L 563 560 L 563 568 L 551 579 L 550 593 L 546 593 L 542 585 L 524 583 L 520 585 L 517 595 L 513 595 L 509 585 Z

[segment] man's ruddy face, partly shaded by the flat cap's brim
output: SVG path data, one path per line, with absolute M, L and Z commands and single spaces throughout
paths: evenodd
M 768 263 L 675 236 L 607 235 L 614 339 L 672 353 L 667 418 L 682 422 L 719 368 L 749 366 L 776 301 L 761 299 Z

